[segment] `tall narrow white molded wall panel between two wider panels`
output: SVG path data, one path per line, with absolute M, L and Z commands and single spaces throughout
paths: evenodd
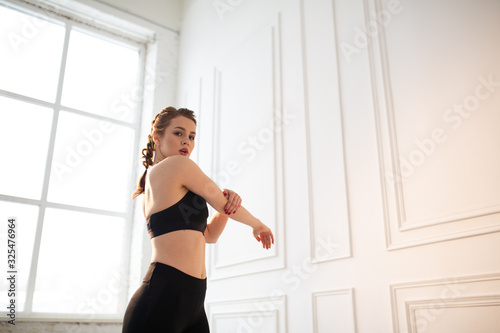
M 311 257 L 318 263 L 351 257 L 341 81 L 335 1 L 301 1 L 301 8 Z

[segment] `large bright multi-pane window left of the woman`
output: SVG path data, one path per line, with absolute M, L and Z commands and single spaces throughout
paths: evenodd
M 127 301 L 145 45 L 45 14 L 0 2 L 0 244 L 5 258 L 16 217 L 18 316 L 112 318 Z

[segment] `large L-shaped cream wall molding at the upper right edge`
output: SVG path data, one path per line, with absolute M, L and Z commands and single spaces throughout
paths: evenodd
M 381 2 L 383 1 L 363 1 L 367 22 L 373 21 L 370 13 L 380 13 L 384 10 Z M 500 231 L 499 202 L 488 202 L 460 211 L 442 212 L 439 216 L 423 216 L 418 219 L 407 217 L 406 204 L 408 202 L 404 195 L 403 179 L 402 176 L 398 176 L 404 173 L 400 167 L 402 154 L 398 144 L 398 124 L 394 108 L 392 78 L 389 72 L 389 41 L 383 25 L 379 24 L 377 27 L 379 33 L 377 38 L 372 38 L 368 43 L 368 54 L 372 75 L 387 248 L 389 250 L 401 249 Z M 391 59 L 393 58 L 394 56 Z

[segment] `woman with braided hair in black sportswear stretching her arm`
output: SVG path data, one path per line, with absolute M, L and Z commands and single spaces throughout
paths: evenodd
M 229 216 L 250 226 L 264 248 L 274 244 L 271 230 L 240 206 L 241 198 L 221 191 L 189 159 L 195 136 L 196 120 L 188 109 L 168 107 L 152 122 L 142 150 L 146 171 L 133 198 L 144 193 L 153 252 L 125 312 L 124 333 L 210 331 L 204 309 L 205 243 L 217 241 Z M 217 211 L 208 224 L 207 202 Z

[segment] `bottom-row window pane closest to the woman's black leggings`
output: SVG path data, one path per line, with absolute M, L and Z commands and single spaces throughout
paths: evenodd
M 116 313 L 124 226 L 122 218 L 48 208 L 33 311 Z

